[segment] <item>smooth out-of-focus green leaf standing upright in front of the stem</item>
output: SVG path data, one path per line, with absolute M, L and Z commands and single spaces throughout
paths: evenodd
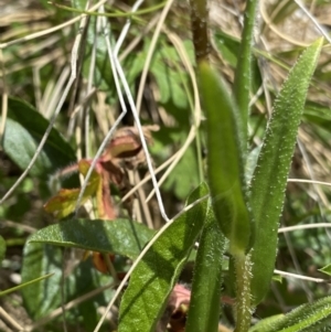
M 241 115 L 216 69 L 199 65 L 206 113 L 207 173 L 215 216 L 229 239 L 231 254 L 249 249 L 253 224 L 244 179 Z

